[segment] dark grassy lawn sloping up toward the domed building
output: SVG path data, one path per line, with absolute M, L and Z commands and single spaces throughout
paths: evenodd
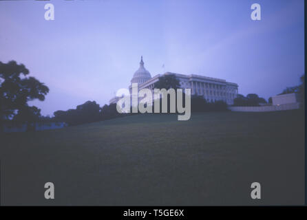
M 133 115 L 1 136 L 2 205 L 304 202 L 304 115 Z M 45 182 L 55 199 L 43 197 Z M 262 199 L 250 197 L 262 184 Z

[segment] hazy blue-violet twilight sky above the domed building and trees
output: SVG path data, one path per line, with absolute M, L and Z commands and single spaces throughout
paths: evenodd
M 268 99 L 304 74 L 304 0 L 0 1 L 0 61 L 23 63 L 50 88 L 30 102 L 43 115 L 109 104 L 141 55 L 151 76 L 222 78 Z

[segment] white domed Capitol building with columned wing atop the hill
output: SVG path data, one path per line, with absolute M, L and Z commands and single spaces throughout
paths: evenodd
M 212 78 L 208 76 L 200 76 L 195 74 L 184 75 L 166 72 L 165 74 L 158 74 L 151 77 L 151 74 L 145 69 L 142 57 L 140 60 L 140 67 L 134 73 L 129 85 L 129 91 L 131 94 L 132 83 L 138 83 L 138 90 L 151 89 L 154 91 L 154 84 L 158 82 L 159 77 L 173 74 L 180 82 L 182 89 L 191 89 L 192 96 L 202 96 L 207 102 L 215 102 L 222 100 L 226 104 L 233 104 L 233 100 L 237 97 L 236 83 L 229 83 L 226 80 L 220 78 Z M 154 92 L 153 92 L 154 93 Z M 109 104 L 116 103 L 120 97 L 114 97 L 109 100 Z

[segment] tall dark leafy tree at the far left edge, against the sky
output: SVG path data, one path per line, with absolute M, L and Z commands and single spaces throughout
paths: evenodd
M 27 77 L 28 74 L 23 64 L 0 62 L 0 120 L 13 118 L 17 113 L 23 115 L 18 118 L 24 118 L 30 112 L 39 112 L 29 107 L 28 101 L 45 100 L 49 89 L 36 78 Z

